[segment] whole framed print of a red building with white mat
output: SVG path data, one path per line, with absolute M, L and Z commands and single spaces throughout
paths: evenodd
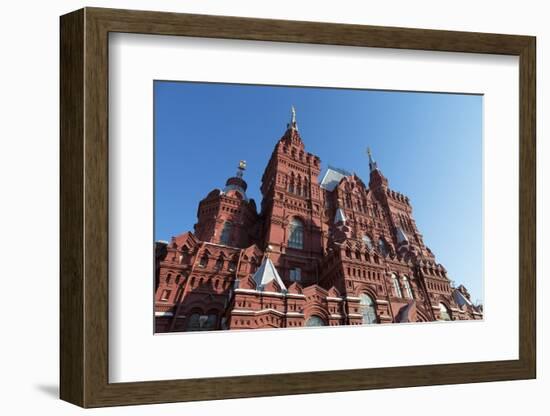
M 61 398 L 535 377 L 535 38 L 61 17 Z

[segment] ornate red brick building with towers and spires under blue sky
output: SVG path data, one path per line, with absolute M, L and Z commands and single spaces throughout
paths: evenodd
M 368 185 L 332 167 L 319 178 L 293 109 L 260 213 L 245 167 L 199 202 L 194 232 L 155 243 L 157 332 L 482 319 L 370 151 Z

